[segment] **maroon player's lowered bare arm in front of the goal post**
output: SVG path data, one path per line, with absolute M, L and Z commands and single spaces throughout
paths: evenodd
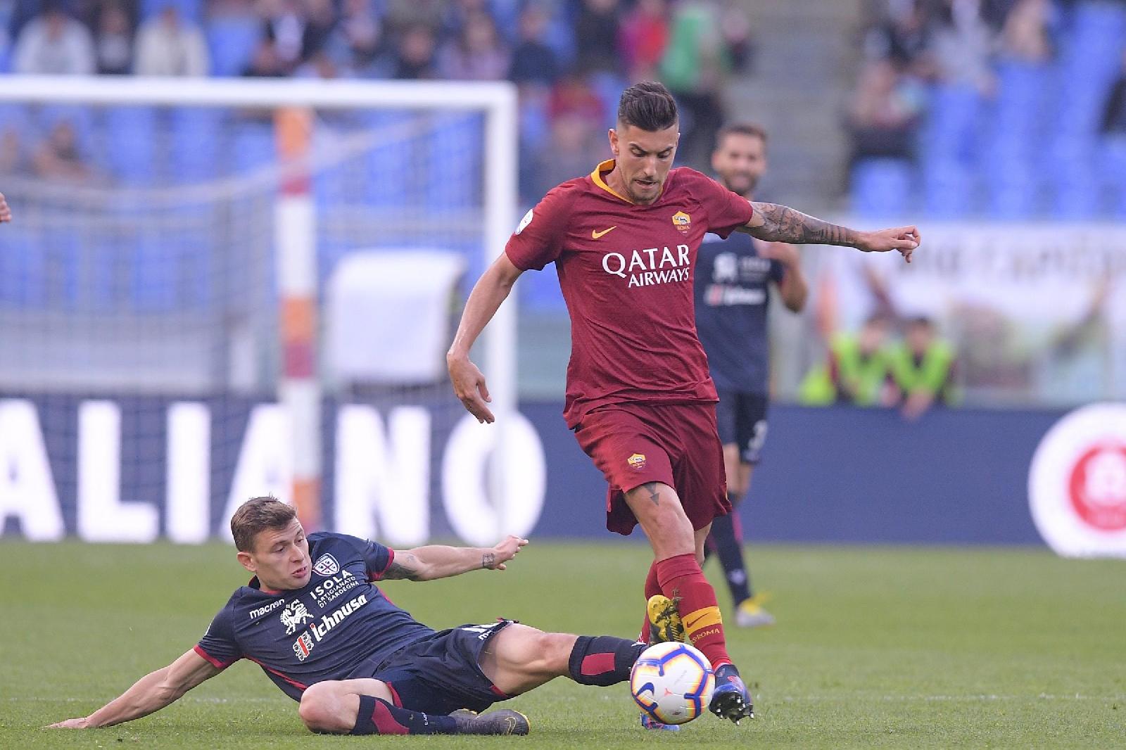
M 449 368 L 454 393 L 479 422 L 492 422 L 495 418 L 485 405 L 485 402 L 492 401 L 485 376 L 470 359 L 470 349 L 522 273 L 508 259 L 507 253 L 500 255 L 473 285 L 470 298 L 465 302 L 462 322 L 454 334 L 454 342 L 446 352 L 446 367 Z

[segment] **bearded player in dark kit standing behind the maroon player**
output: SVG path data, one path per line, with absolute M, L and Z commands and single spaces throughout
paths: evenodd
M 753 200 L 751 194 L 767 170 L 766 132 L 752 124 L 721 130 L 712 169 L 729 190 Z M 793 312 L 805 306 L 808 285 L 794 245 L 759 242 L 741 233 L 726 240 L 705 235 L 696 260 L 695 283 L 696 331 L 720 395 L 716 425 L 723 444 L 727 499 L 734 507 L 750 489 L 751 472 L 767 438 L 770 284 L 778 287 L 783 304 Z M 715 553 L 723 565 L 735 604 L 735 624 L 772 624 L 774 617 L 751 591 L 735 510 L 712 523 L 706 552 Z

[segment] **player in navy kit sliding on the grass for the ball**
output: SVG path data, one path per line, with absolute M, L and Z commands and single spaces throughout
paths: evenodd
M 515 711 L 472 712 L 555 677 L 583 685 L 627 680 L 645 648 L 608 635 L 544 633 L 509 619 L 435 632 L 373 582 L 504 570 L 527 544 L 515 536 L 491 548 L 406 551 L 343 534 L 306 538 L 294 509 L 274 498 L 243 503 L 231 532 L 239 562 L 254 578 L 231 596 L 199 643 L 89 716 L 52 726 L 110 726 L 145 716 L 249 659 L 301 702 L 301 718 L 314 732 L 527 734 L 527 718 Z

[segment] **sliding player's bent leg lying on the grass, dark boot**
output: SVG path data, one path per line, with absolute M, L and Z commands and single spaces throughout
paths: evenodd
M 327 734 L 527 734 L 515 711 L 444 716 L 395 705 L 383 680 L 325 680 L 305 688 L 297 708 L 310 731 Z

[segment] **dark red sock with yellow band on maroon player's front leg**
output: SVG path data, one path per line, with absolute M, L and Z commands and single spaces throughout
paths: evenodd
M 704 652 L 712 669 L 730 664 L 723 618 L 715 601 L 715 590 L 704 578 L 696 555 L 676 555 L 656 562 L 661 591 L 677 602 L 688 642 Z

